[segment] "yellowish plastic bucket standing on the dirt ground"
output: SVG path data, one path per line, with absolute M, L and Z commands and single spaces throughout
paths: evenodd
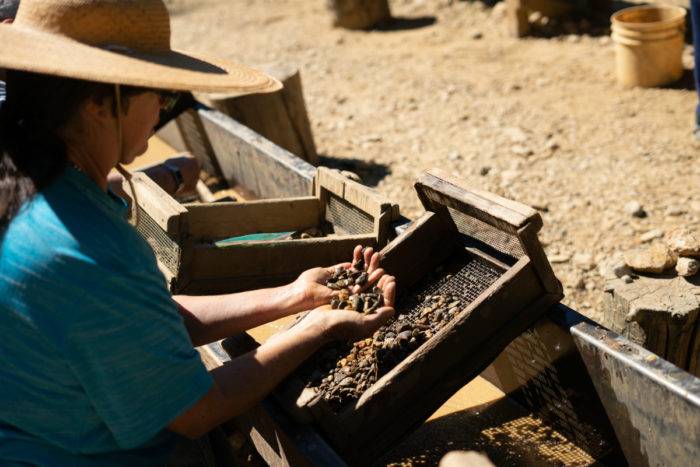
M 677 6 L 639 6 L 612 15 L 620 84 L 653 87 L 681 78 L 685 15 Z

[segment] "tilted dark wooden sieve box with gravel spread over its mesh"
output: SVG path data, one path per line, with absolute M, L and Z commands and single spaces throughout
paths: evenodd
M 296 375 L 277 391 L 353 464 L 367 465 L 419 426 L 562 298 L 537 239 L 537 211 L 467 190 L 437 170 L 415 188 L 427 212 L 382 250 L 382 266 L 399 288 L 396 309 L 439 293 L 467 305 L 340 412 Z

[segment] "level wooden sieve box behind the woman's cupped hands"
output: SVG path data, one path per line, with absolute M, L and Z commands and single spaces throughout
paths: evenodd
M 355 245 L 382 247 L 398 217 L 373 190 L 318 168 L 315 195 L 251 202 L 180 204 L 143 174 L 133 177 L 137 229 L 151 244 L 174 293 L 227 293 L 279 285 L 302 271 L 352 258 Z M 326 225 L 325 237 L 224 239 Z

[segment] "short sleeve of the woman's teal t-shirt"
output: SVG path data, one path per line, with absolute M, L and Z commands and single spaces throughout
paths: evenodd
M 72 280 L 50 296 L 77 308 L 59 348 L 117 444 L 138 447 L 200 400 L 212 378 L 157 269 L 119 273 L 80 255 L 56 262 Z

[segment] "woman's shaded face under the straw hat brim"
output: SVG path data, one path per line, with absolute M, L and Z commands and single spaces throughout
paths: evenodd
M 161 99 L 152 91 L 129 97 L 126 113 L 122 114 L 122 155 L 119 162 L 130 164 L 148 149 L 160 118 Z

